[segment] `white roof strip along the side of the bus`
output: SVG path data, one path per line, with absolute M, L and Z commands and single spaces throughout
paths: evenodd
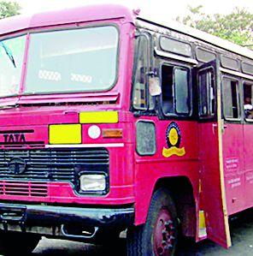
M 224 50 L 232 51 L 233 53 L 237 53 L 238 55 L 253 59 L 253 51 L 251 51 L 250 49 L 240 45 L 233 44 L 230 41 L 221 39 L 209 33 L 205 33 L 203 31 L 197 30 L 195 28 L 185 26 L 177 21 L 170 21 L 170 20 L 164 19 L 163 17 L 157 17 L 156 21 L 155 20 L 150 21 L 150 19 L 146 17 L 138 17 L 138 20 L 145 21 L 159 27 L 166 27 L 168 29 L 172 29 L 179 33 L 184 33 L 195 39 L 200 39 L 206 43 L 209 43 L 210 45 L 215 45 Z

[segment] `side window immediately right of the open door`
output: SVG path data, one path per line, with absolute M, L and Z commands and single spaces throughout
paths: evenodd
M 223 111 L 227 120 L 239 118 L 238 80 L 224 77 L 223 87 Z

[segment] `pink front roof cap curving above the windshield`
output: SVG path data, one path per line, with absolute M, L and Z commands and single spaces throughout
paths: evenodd
M 72 9 L 61 9 L 34 15 L 16 15 L 0 21 L 0 36 L 21 32 L 28 28 L 56 26 L 74 22 L 103 21 L 125 18 L 134 22 L 132 11 L 116 4 L 81 6 Z

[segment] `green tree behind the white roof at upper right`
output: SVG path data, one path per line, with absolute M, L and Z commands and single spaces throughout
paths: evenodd
M 246 9 L 235 8 L 228 15 L 206 15 L 202 5 L 188 9 L 189 15 L 177 17 L 177 21 L 238 45 L 253 45 L 253 14 Z

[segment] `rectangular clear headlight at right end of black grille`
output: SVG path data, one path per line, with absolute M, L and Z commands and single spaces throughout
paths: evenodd
M 82 175 L 79 179 L 82 191 L 104 191 L 106 188 L 106 177 L 104 175 Z

